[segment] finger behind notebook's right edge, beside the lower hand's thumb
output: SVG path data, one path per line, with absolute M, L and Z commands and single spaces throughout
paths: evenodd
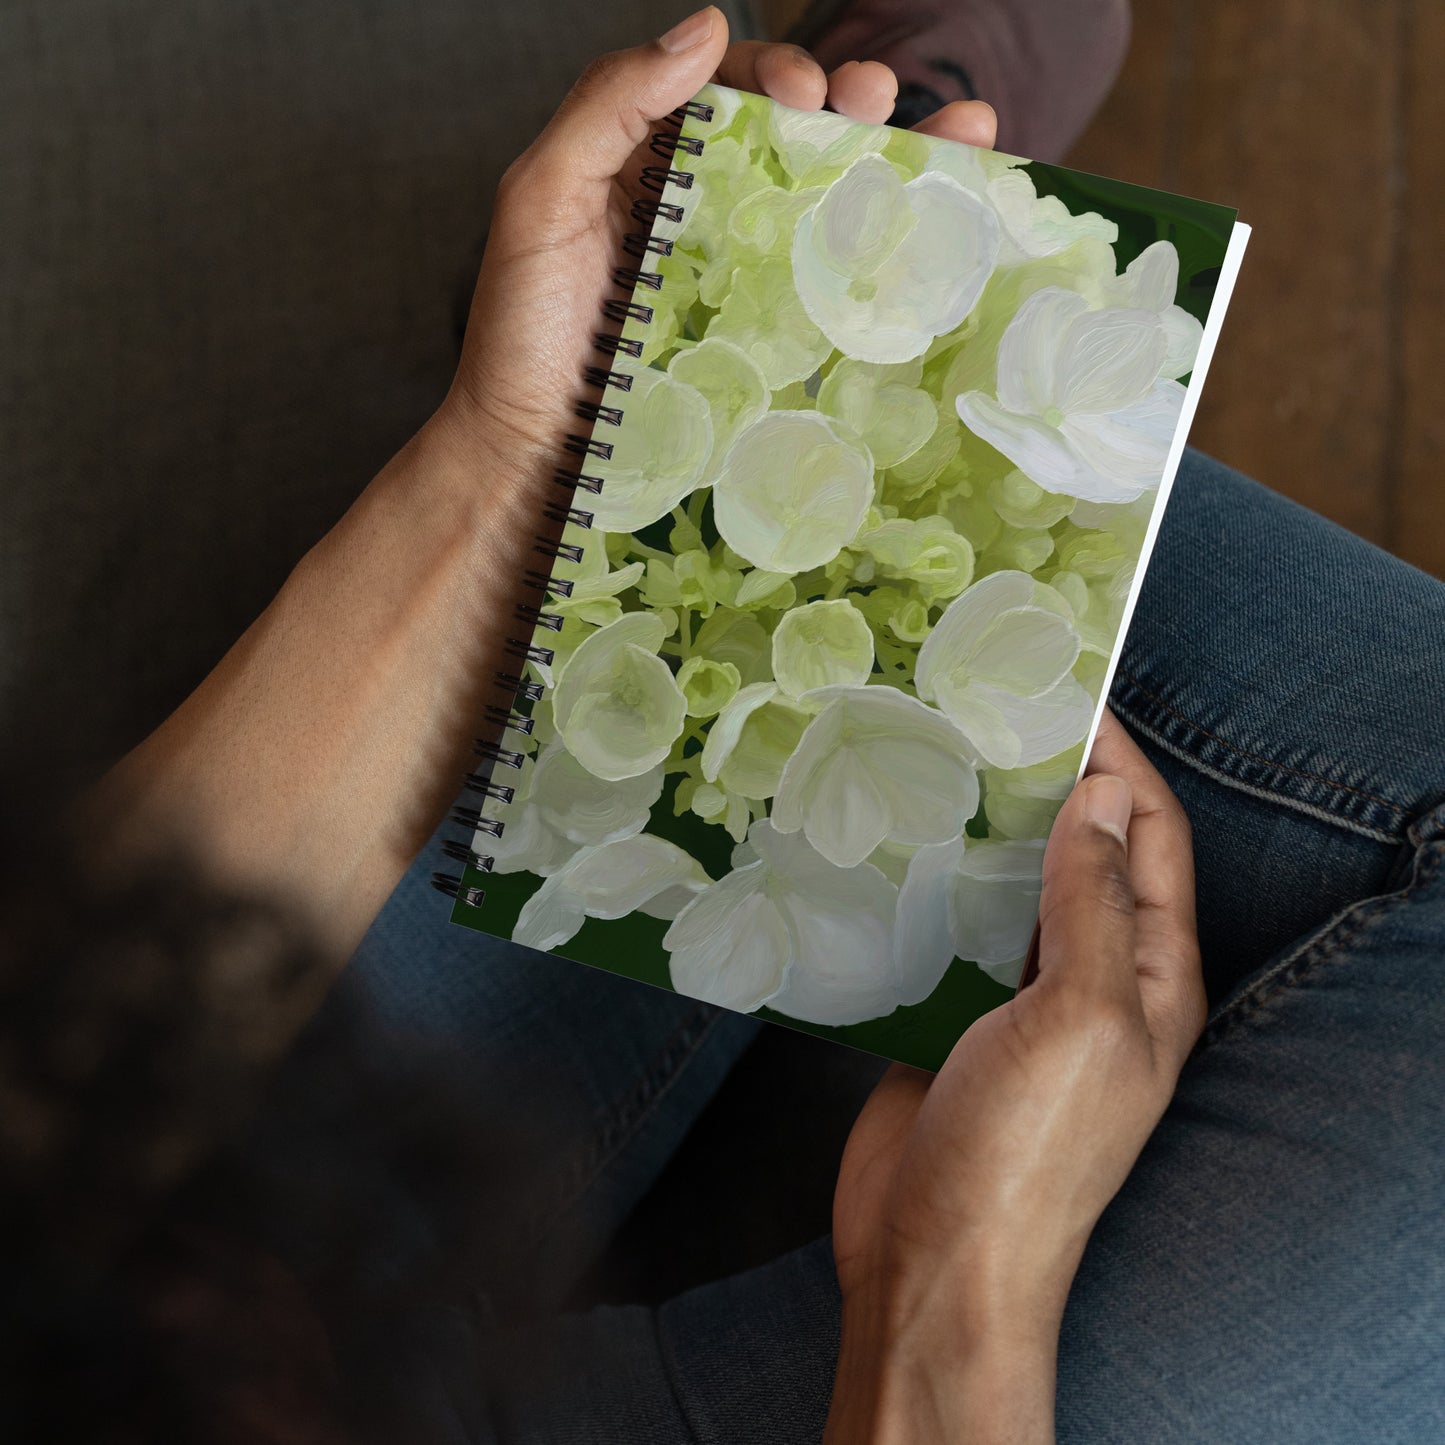
M 1204 1027 L 1205 997 L 1194 906 L 1194 847 L 1179 799 L 1108 709 L 1090 751 L 1088 775 L 1129 782 L 1129 873 L 1134 889 L 1136 967 L 1156 1038 L 1186 1053 Z

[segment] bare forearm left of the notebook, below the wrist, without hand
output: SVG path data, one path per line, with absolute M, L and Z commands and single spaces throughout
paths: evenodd
M 179 842 L 350 955 L 478 730 L 539 506 L 506 457 L 442 416 L 423 428 L 85 801 L 108 863 Z

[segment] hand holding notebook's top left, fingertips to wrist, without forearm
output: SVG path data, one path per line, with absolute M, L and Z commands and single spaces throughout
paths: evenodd
M 604 55 L 587 68 L 533 144 L 507 169 L 487 237 L 461 364 L 435 428 L 468 455 L 468 477 L 488 486 L 546 478 L 578 431 L 572 403 L 592 335 L 616 329 L 603 303 L 659 121 L 709 79 L 757 91 L 796 110 L 827 101 L 854 120 L 880 123 L 897 82 L 876 62 L 825 75 L 795 45 L 728 45 L 727 19 L 708 6 L 662 39 Z M 994 114 L 958 101 L 916 129 L 991 146 Z M 535 501 L 529 503 L 535 517 Z

